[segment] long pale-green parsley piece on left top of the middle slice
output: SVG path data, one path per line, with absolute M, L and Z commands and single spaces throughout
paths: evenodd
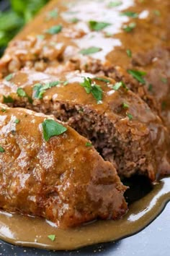
M 37 83 L 34 85 L 33 90 L 35 91 L 34 98 L 40 98 L 42 99 L 43 94 L 45 93 L 45 90 L 48 90 L 50 88 L 53 88 L 57 85 L 67 85 L 68 81 L 53 81 L 53 82 L 47 82 L 45 85 L 42 85 L 40 83 Z

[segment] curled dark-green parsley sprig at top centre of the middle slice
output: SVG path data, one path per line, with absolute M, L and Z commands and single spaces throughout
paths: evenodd
M 97 100 L 97 103 L 102 101 L 102 95 L 103 95 L 102 88 L 100 88 L 99 85 L 96 85 L 95 83 L 93 83 L 89 77 L 87 78 L 84 77 L 84 82 L 81 82 L 80 85 L 84 87 L 84 89 L 86 90 L 86 93 L 88 94 L 91 93 L 94 96 L 94 98 Z

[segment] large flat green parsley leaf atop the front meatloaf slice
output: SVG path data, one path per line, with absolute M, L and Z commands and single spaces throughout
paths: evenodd
M 67 128 L 63 127 L 62 124 L 59 124 L 57 121 L 53 119 L 46 119 L 42 123 L 43 136 L 45 141 L 50 140 L 53 136 L 62 135 L 63 132 L 66 132 Z

